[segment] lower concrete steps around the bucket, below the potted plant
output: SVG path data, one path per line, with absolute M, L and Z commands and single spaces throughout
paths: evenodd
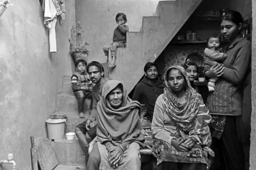
M 54 114 L 67 115 L 65 133 L 75 132 L 75 127 L 85 121 L 80 118 L 77 111 L 77 99 L 71 89 L 71 76 L 62 78 L 62 92 L 56 97 L 56 112 Z M 90 100 L 86 99 L 84 104 L 84 114 L 89 116 Z M 54 150 L 59 165 L 54 170 L 78 170 L 85 169 L 85 152 L 79 145 L 77 137 L 75 140 L 67 140 L 65 137 L 52 141 L 51 147 Z

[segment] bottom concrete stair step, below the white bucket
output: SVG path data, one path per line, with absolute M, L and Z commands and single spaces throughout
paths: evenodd
M 51 146 L 59 164 L 85 165 L 85 152 L 79 145 L 77 137 L 74 140 L 67 140 L 64 138 L 58 142 L 51 142 Z

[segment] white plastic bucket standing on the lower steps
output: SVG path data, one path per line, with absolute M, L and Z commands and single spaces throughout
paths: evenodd
M 64 137 L 66 118 L 46 120 L 49 139 L 61 139 Z

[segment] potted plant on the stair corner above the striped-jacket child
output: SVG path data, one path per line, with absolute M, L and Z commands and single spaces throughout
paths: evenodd
M 74 58 L 75 62 L 77 60 L 87 60 L 89 55 L 89 49 L 87 49 L 88 43 L 83 43 L 81 36 L 84 31 L 81 31 L 81 23 L 76 22 L 76 27 L 73 25 L 71 28 L 71 38 L 70 43 L 70 55 Z

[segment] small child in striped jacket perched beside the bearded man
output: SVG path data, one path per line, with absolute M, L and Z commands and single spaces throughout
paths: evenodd
M 78 113 L 80 118 L 84 118 L 84 100 L 91 99 L 90 111 L 92 110 L 92 81 L 86 72 L 87 62 L 78 60 L 75 63 L 76 72 L 71 77 L 71 87 L 78 102 Z

